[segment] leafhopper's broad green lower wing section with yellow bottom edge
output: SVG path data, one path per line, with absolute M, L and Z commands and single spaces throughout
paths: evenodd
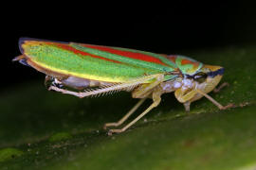
M 77 43 L 25 41 L 22 43 L 22 48 L 32 63 L 49 72 L 107 82 L 125 82 L 140 76 L 174 70 L 169 65 L 163 66 L 154 62 L 130 59 L 97 49 L 85 48 Z M 35 67 L 35 69 L 38 68 Z

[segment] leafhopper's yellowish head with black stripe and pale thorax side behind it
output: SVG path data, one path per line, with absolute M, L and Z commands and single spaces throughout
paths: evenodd
M 202 97 L 196 89 L 210 93 L 220 82 L 224 68 L 220 66 L 203 65 L 195 74 L 184 75 L 183 86 L 175 91 L 176 98 L 185 103 Z

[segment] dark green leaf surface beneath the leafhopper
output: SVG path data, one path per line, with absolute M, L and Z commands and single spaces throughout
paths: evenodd
M 255 168 L 255 46 L 184 54 L 224 66 L 222 82 L 229 82 L 229 87 L 210 95 L 223 105 L 232 102 L 239 107 L 218 110 L 203 98 L 188 114 L 174 94 L 167 93 L 134 127 L 107 136 L 102 125 L 118 120 L 137 99 L 130 93 L 80 99 L 47 92 L 42 78 L 1 92 L 0 148 L 17 148 L 23 154 L 0 162 L 0 169 Z M 50 141 L 56 134 L 72 137 Z

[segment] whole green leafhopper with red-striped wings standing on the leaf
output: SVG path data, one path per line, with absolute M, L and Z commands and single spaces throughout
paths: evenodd
M 105 128 L 119 127 L 146 98 L 153 99 L 153 103 L 136 119 L 122 128 L 109 129 L 109 134 L 133 126 L 160 103 L 162 93 L 174 92 L 187 111 L 193 101 L 203 96 L 220 110 L 231 107 L 230 104 L 223 107 L 208 94 L 224 74 L 224 68 L 220 66 L 206 65 L 184 56 L 77 42 L 21 38 L 19 47 L 22 55 L 13 60 L 46 74 L 48 90 L 81 98 L 127 91 L 140 99 L 123 118 L 105 124 Z

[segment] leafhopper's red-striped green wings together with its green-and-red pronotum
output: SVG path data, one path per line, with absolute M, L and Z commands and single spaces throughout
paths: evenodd
M 127 82 L 140 76 L 177 70 L 193 74 L 202 66 L 200 62 L 180 56 L 168 57 L 133 49 L 75 42 L 25 39 L 20 42 L 20 49 L 31 66 L 38 65 L 62 75 L 105 82 Z M 171 78 L 174 76 L 165 77 Z

